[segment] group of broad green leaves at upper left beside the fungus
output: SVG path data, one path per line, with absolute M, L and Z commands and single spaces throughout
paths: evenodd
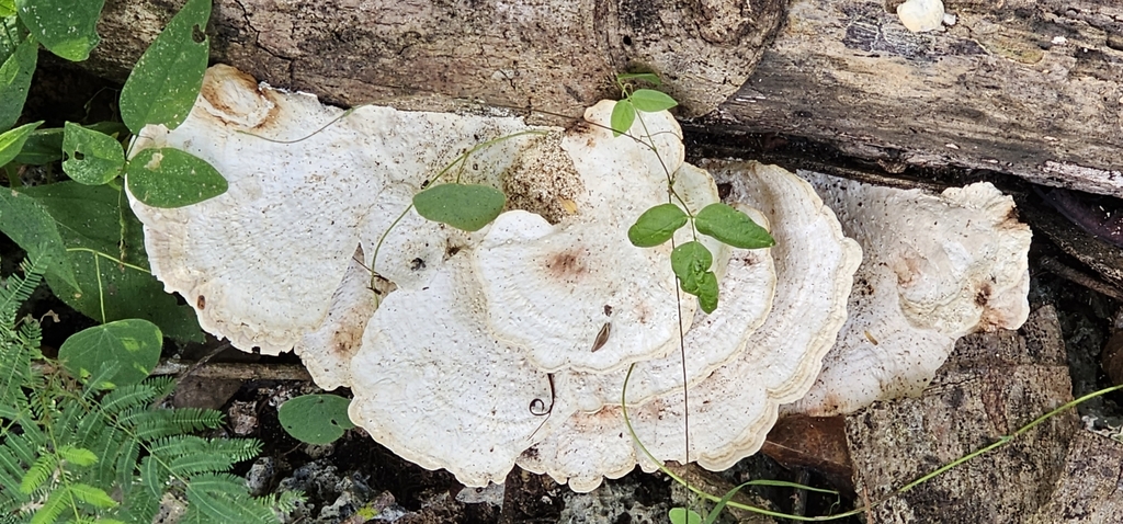
M 4 33 L 0 35 L 0 129 L 10 127 L 22 111 L 39 43 L 64 58 L 84 59 L 98 42 L 94 28 L 103 3 L 0 0 L 0 10 L 11 6 L 18 15 L 3 18 L 0 28 Z M 122 118 L 134 125 L 134 131 L 146 123 L 174 127 L 186 117 L 207 65 L 209 43 L 201 31 L 209 16 L 209 0 L 189 1 L 145 52 L 120 101 L 127 113 Z M 225 192 L 226 180 L 202 159 L 177 150 L 143 153 L 136 163 L 127 162 L 119 140 L 128 128 L 121 123 L 36 127 L 0 135 L 0 167 L 64 159 L 63 171 L 91 186 L 49 184 L 0 195 L 0 232 L 31 256 L 49 251 L 47 282 L 80 312 L 101 322 L 145 319 L 168 337 L 201 341 L 194 312 L 176 305 L 149 274 L 140 223 L 118 181 L 135 173 L 137 180 L 129 187 L 141 190 L 141 201 L 179 206 Z M 156 155 L 163 162 L 154 163 Z M 156 165 L 159 169 L 154 169 Z M 16 189 L 19 180 L 12 173 L 9 166 L 9 181 Z

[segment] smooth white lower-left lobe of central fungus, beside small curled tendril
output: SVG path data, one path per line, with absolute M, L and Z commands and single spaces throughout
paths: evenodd
M 486 307 L 459 254 L 426 286 L 391 293 L 351 360 L 351 421 L 468 486 L 502 482 L 544 423 L 570 411 L 548 374 L 491 337 Z

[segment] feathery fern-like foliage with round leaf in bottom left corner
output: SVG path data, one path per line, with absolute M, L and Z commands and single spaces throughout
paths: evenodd
M 143 347 L 153 341 L 139 339 L 155 331 L 158 342 L 155 327 L 107 324 L 69 339 L 61 350 L 67 364 L 74 356 L 100 362 L 85 378 L 43 358 L 38 322 L 17 320 L 40 267 L 25 264 L 24 277 L 0 287 L 0 520 L 150 523 L 172 494 L 188 500 L 185 522 L 279 522 L 274 508 L 291 509 L 296 495 L 255 499 L 244 480 L 226 474 L 258 453 L 257 441 L 191 435 L 220 426 L 222 415 L 158 408 L 171 379 L 121 374 L 118 352 L 133 347 L 130 339 L 137 352 L 149 351 Z

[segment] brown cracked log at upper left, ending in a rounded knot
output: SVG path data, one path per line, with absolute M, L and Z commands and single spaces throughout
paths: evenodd
M 745 82 L 788 0 L 214 0 L 212 58 L 347 105 L 457 99 L 581 116 L 617 73 L 659 73 L 684 114 Z M 124 80 L 183 0 L 110 0 L 91 66 Z

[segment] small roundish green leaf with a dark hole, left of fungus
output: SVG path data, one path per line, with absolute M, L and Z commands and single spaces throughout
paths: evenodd
M 63 171 L 80 184 L 101 185 L 125 167 L 125 150 L 116 138 L 74 122 L 66 122 L 63 138 Z

